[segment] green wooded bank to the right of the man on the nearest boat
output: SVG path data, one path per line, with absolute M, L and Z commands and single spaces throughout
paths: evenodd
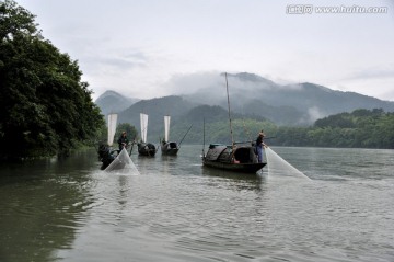
M 394 113 L 356 110 L 318 119 L 312 127 L 279 127 L 273 145 L 394 149 Z

